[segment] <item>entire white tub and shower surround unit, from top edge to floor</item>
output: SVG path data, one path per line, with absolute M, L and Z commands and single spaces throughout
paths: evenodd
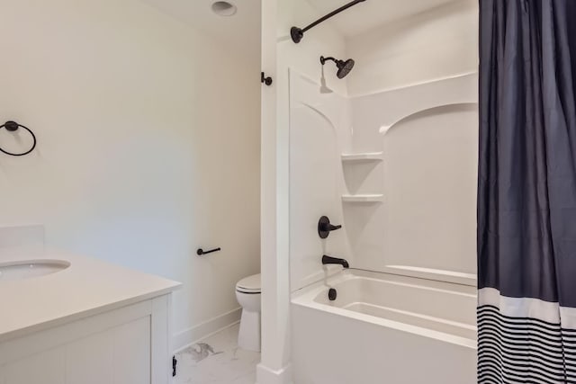
M 474 382 L 476 83 L 347 97 L 290 72 L 295 382 Z

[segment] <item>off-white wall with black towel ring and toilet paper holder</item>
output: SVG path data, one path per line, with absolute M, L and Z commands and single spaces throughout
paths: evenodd
M 0 221 L 183 281 L 176 347 L 238 317 L 235 283 L 259 269 L 259 58 L 136 0 L 0 0 L 0 13 L 0 119 L 39 140 L 0 156 Z

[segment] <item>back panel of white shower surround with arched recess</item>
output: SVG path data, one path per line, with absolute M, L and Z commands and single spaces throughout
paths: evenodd
M 355 267 L 425 269 L 448 281 L 464 274 L 474 283 L 477 83 L 472 73 L 350 99 L 352 146 L 383 151 L 359 191 L 380 187 L 384 204 L 347 219 Z

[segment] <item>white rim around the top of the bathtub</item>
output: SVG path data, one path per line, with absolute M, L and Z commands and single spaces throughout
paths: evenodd
M 422 326 L 412 326 L 410 324 L 404 324 L 398 321 L 390 320 L 383 317 L 376 317 L 372 315 L 367 315 L 363 313 L 359 313 L 350 309 L 345 308 L 338 308 L 332 307 L 326 304 L 319 303 L 315 301 L 316 297 L 326 291 L 329 286 L 338 284 L 344 281 L 349 280 L 356 280 L 356 279 L 373 279 L 373 280 L 387 280 L 387 281 L 394 281 L 399 283 L 405 284 L 415 284 L 418 281 L 423 282 L 426 281 L 425 284 L 416 284 L 416 285 L 426 285 L 428 288 L 435 289 L 435 290 L 446 290 L 446 285 L 454 286 L 456 293 L 461 293 L 466 296 L 470 295 L 476 297 L 476 289 L 475 287 L 471 287 L 468 284 L 457 284 L 454 282 L 446 282 L 446 281 L 435 281 L 435 280 L 428 280 L 428 279 L 421 279 L 418 277 L 410 277 L 405 275 L 398 275 L 386 272 L 371 272 L 359 269 L 347 269 L 337 274 L 333 274 L 322 281 L 314 282 L 306 287 L 303 287 L 300 290 L 296 290 L 293 292 L 291 297 L 291 303 L 296 306 L 304 307 L 304 308 L 311 308 L 315 310 L 320 310 L 323 312 L 328 312 L 331 315 L 335 316 L 342 316 L 354 319 L 356 321 L 362 321 L 365 323 L 370 323 L 376 326 L 386 326 L 401 332 L 407 332 L 410 334 L 420 335 L 423 337 L 433 338 L 436 340 L 440 340 L 449 344 L 456 344 L 460 346 L 464 346 L 466 348 L 470 348 L 473 350 L 477 350 L 477 341 L 472 340 L 463 336 L 451 335 L 440 331 L 435 331 L 429 328 L 425 328 Z M 454 291 L 454 290 L 450 290 Z

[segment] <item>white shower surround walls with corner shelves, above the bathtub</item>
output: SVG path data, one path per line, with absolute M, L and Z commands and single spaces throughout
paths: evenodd
M 338 267 L 474 284 L 476 74 L 358 97 L 290 74 L 292 290 Z M 320 239 L 326 215 L 343 229 Z

